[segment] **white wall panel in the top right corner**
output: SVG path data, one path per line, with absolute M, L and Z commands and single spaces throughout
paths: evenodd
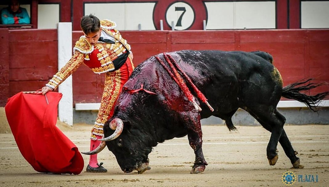
M 301 28 L 329 28 L 329 1 L 302 1 Z

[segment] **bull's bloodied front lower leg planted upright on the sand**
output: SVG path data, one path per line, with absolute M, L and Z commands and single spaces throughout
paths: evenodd
M 202 132 L 200 131 L 190 131 L 188 133 L 188 138 L 190 146 L 194 150 L 195 161 L 191 170 L 191 174 L 198 174 L 203 172 L 208 165 L 202 152 Z

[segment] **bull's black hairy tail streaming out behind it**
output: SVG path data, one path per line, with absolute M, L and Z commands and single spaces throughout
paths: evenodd
M 292 83 L 292 84 L 284 87 L 282 90 L 282 96 L 286 97 L 288 99 L 294 99 L 299 102 L 302 102 L 302 103 L 306 104 L 306 106 L 310 110 L 316 112 L 318 104 L 321 102 L 321 100 L 323 98 L 325 98 L 327 95 L 329 95 L 329 92 L 323 92 L 323 93 L 319 93 L 316 95 L 306 95 L 306 94 L 301 93 L 301 91 L 311 90 L 313 88 L 316 88 L 316 87 L 319 87 L 319 86 L 325 84 L 325 83 L 319 83 L 319 84 L 310 83 L 309 82 L 310 80 L 312 80 L 312 79 L 308 79 L 306 81 L 295 82 L 295 83 Z M 305 83 L 307 83 L 307 85 L 301 86 Z

